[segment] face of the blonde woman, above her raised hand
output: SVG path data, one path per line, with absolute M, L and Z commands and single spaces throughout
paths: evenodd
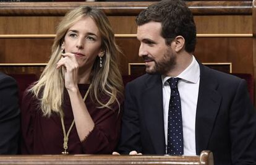
M 101 53 L 101 36 L 94 20 L 83 17 L 67 30 L 63 46 L 65 53 L 75 55 L 79 67 L 91 68 Z

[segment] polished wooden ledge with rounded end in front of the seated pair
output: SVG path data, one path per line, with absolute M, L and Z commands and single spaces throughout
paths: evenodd
M 151 156 L 151 155 L 99 155 L 99 154 L 75 154 L 75 155 L 2 155 L 0 164 L 19 165 L 106 165 L 106 164 L 205 164 L 213 165 L 213 154 L 210 151 L 202 151 L 200 156 Z

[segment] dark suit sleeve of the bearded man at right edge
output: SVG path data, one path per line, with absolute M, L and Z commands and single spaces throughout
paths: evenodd
M 244 80 L 237 87 L 229 111 L 231 156 L 234 164 L 256 163 L 256 111 Z

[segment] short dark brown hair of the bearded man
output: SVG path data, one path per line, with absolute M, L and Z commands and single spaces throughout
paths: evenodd
M 161 35 L 170 44 L 178 35 L 185 39 L 185 49 L 188 53 L 195 50 L 197 30 L 192 12 L 182 0 L 163 0 L 151 4 L 147 9 L 140 12 L 136 18 L 137 25 L 148 22 L 160 22 L 162 25 Z

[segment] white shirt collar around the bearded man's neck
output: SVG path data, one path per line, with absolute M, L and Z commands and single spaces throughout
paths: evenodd
M 181 78 L 182 80 L 186 80 L 187 82 L 191 83 L 197 83 L 200 77 L 200 67 L 195 59 L 194 56 L 192 56 L 192 62 L 189 64 L 189 66 L 181 72 L 181 74 L 177 75 L 177 77 Z M 170 78 L 166 75 L 161 75 L 163 85 L 164 83 Z

